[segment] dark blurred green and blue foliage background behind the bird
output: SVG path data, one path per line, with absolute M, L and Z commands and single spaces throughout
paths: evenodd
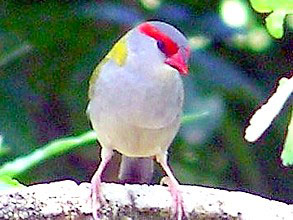
M 292 75 L 290 30 L 282 40 L 272 39 L 262 14 L 244 0 L 248 22 L 238 27 L 222 19 L 223 1 L 149 2 L 0 3 L 0 134 L 7 149 L 0 163 L 44 153 L 46 146 L 40 146 L 55 139 L 86 135 L 93 69 L 127 30 L 156 19 L 181 29 L 193 45 L 190 75 L 184 78 L 185 114 L 202 117 L 185 123 L 170 148 L 179 181 L 292 201 L 293 173 L 280 160 L 292 99 L 257 143 L 243 138 L 254 109 L 270 96 L 277 79 Z M 76 143 L 69 153 L 67 147 L 54 148 L 54 157 L 45 152 L 47 160 L 26 160 L 27 167 L 21 169 L 30 169 L 15 177 L 25 184 L 89 181 L 99 148 L 91 141 Z M 115 157 L 105 180 L 117 180 L 118 165 Z M 161 175 L 157 171 L 155 181 Z

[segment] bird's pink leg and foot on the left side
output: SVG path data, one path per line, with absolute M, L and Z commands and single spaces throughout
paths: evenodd
M 106 199 L 103 196 L 101 191 L 101 176 L 107 163 L 111 160 L 112 155 L 113 155 L 112 148 L 102 147 L 101 163 L 91 180 L 91 184 L 92 184 L 91 185 L 91 201 L 92 201 L 93 217 L 95 220 L 99 219 L 97 210 L 101 207 L 101 205 L 106 203 Z

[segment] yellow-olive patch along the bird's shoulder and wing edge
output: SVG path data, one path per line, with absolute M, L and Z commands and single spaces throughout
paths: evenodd
M 98 64 L 95 68 L 89 86 L 89 98 L 93 96 L 94 93 L 94 84 L 99 77 L 99 73 L 101 72 L 102 67 L 109 61 L 114 60 L 117 65 L 123 66 L 127 59 L 127 45 L 126 45 L 126 37 L 122 37 L 112 48 L 112 50 L 106 55 L 106 57 Z

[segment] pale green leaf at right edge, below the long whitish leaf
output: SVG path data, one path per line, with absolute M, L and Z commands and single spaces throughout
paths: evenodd
M 293 165 L 293 109 L 291 112 L 291 122 L 288 127 L 288 134 L 281 154 L 281 159 L 284 166 Z

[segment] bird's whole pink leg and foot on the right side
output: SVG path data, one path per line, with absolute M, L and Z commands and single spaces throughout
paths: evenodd
M 157 162 L 162 166 L 167 176 L 161 180 L 161 184 L 166 184 L 169 187 L 171 196 L 172 196 L 172 212 L 175 215 L 177 220 L 181 220 L 183 216 L 187 217 L 187 212 L 185 211 L 183 198 L 181 191 L 179 190 L 179 183 L 175 179 L 168 163 L 167 163 L 167 154 L 162 153 L 156 156 Z

